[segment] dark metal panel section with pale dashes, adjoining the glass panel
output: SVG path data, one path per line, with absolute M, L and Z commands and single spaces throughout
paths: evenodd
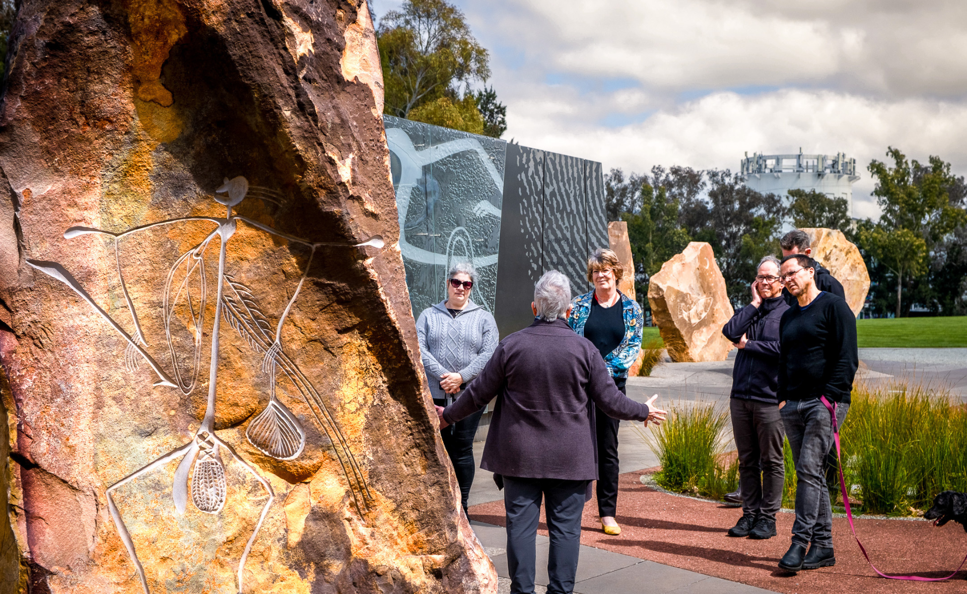
M 503 338 L 534 321 L 534 284 L 543 274 L 544 152 L 507 145 L 497 270 L 497 327 Z

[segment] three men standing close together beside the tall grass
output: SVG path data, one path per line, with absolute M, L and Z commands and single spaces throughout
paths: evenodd
M 782 260 L 766 256 L 751 302 L 722 327 L 739 349 L 729 409 L 739 455 L 743 515 L 729 536 L 776 536 L 785 472 L 783 436 L 796 465 L 792 545 L 779 568 L 798 572 L 835 564 L 833 508 L 838 460 L 830 411 L 842 423 L 859 366 L 856 316 L 842 285 L 811 257 L 800 230 L 780 240 Z

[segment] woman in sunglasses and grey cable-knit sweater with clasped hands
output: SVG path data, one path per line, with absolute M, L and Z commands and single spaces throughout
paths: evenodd
M 447 274 L 447 298 L 427 307 L 417 320 L 420 353 L 433 404 L 447 407 L 484 369 L 500 342 L 493 315 L 470 299 L 477 270 L 455 264 Z M 484 410 L 440 430 L 454 465 L 460 500 L 467 511 L 474 482 L 474 435 Z

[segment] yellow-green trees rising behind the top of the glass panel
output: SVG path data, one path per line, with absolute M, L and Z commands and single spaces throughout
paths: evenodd
M 446 0 L 407 0 L 376 28 L 386 102 L 383 113 L 494 138 L 507 130 L 507 106 L 493 87 L 487 50 Z

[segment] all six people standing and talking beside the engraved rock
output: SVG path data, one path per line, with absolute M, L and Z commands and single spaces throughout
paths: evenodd
M 819 398 L 834 401 L 843 419 L 858 365 L 856 321 L 842 286 L 812 260 L 808 245 L 805 233 L 787 234 L 782 260 L 763 258 L 751 303 L 722 328 L 739 349 L 730 409 L 740 491 L 730 495 L 741 499 L 743 516 L 728 533 L 776 535 L 787 436 L 799 476 L 792 546 L 779 562 L 788 571 L 835 563 L 825 478 L 832 424 Z M 484 407 L 495 404 L 481 467 L 504 491 L 514 594 L 534 592 L 542 501 L 550 537 L 547 592 L 572 591 L 581 512 L 593 481 L 602 530 L 621 532 L 620 421 L 665 418 L 664 410 L 627 396 L 644 318 L 618 290 L 625 273 L 613 251 L 598 249 L 587 267 L 594 290 L 572 299 L 568 277 L 548 270 L 534 289 L 534 323 L 501 341 L 493 316 L 470 298 L 476 270 L 458 264 L 447 274 L 447 298 L 417 321 L 464 512 L 476 468 L 474 436 Z

